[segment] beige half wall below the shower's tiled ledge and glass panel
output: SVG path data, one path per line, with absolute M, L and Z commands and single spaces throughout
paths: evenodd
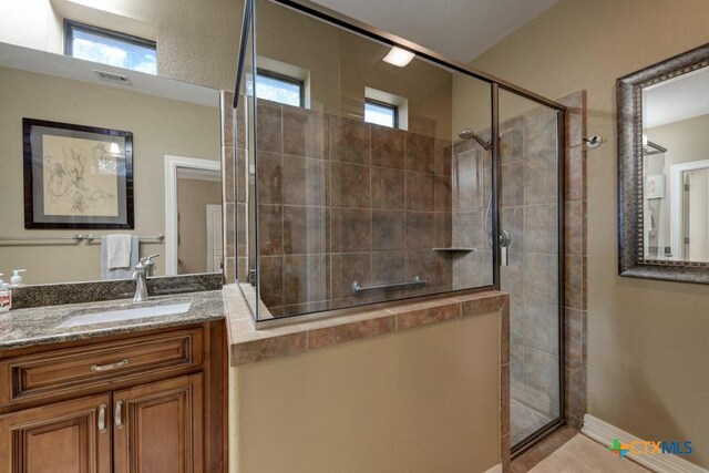
M 230 471 L 486 471 L 499 353 L 494 312 L 232 368 Z

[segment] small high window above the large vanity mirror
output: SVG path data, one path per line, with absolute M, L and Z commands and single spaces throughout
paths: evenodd
M 157 73 L 155 42 L 64 20 L 64 54 L 147 74 Z

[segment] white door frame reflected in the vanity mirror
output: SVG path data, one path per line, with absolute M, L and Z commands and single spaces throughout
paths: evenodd
M 218 160 L 165 155 L 165 276 L 177 276 L 177 169 L 222 172 Z

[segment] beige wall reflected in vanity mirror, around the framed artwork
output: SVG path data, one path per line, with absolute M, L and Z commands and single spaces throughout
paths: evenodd
M 216 105 L 216 104 L 215 104 Z M 0 68 L 0 197 L 2 237 L 31 238 L 91 233 L 25 230 L 22 178 L 22 117 L 133 132 L 135 230 L 165 232 L 165 155 L 219 158 L 218 109 L 120 89 Z M 106 230 L 94 230 L 105 234 Z M 141 245 L 144 246 L 144 245 Z M 25 284 L 101 279 L 100 245 L 0 246 L 0 273 L 27 268 Z M 156 275 L 164 274 L 164 245 Z

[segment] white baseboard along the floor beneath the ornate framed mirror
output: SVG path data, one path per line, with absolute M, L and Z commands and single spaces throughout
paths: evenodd
M 643 440 L 589 414 L 584 415 L 584 426 L 580 432 L 607 446 L 613 444 L 614 439 L 618 439 L 623 443 Z M 657 473 L 709 473 L 709 470 L 697 466 L 678 455 L 634 455 L 628 453 L 628 457 Z

